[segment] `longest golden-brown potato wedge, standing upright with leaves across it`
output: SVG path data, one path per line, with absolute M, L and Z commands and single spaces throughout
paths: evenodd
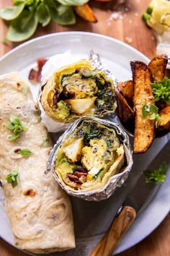
M 134 153 L 144 153 L 151 146 L 155 133 L 155 120 L 144 118 L 143 105 L 153 103 L 151 82 L 153 80 L 150 69 L 141 61 L 130 62 L 133 72 L 134 107 L 135 107 L 135 135 Z

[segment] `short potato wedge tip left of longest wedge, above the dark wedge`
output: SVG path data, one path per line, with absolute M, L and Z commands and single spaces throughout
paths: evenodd
M 133 101 L 133 81 L 119 82 L 117 89 L 128 101 Z

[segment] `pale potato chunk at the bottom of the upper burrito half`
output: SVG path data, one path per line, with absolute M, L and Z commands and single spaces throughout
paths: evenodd
M 66 100 L 65 102 L 71 108 L 71 111 L 76 114 L 84 114 L 94 106 L 94 101 L 97 97 L 81 98 L 76 100 Z

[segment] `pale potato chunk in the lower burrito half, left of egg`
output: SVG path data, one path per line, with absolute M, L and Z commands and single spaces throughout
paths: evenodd
M 76 163 L 81 158 L 81 150 L 84 147 L 84 139 L 81 137 L 79 139 L 73 140 L 69 145 L 63 148 L 63 152 L 66 157 L 72 163 Z

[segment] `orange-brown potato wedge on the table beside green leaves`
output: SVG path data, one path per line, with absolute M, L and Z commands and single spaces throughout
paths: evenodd
M 84 20 L 89 22 L 97 22 L 97 18 L 94 15 L 93 10 L 89 7 L 89 4 L 83 4 L 78 7 L 74 7 L 76 14 L 78 14 Z

